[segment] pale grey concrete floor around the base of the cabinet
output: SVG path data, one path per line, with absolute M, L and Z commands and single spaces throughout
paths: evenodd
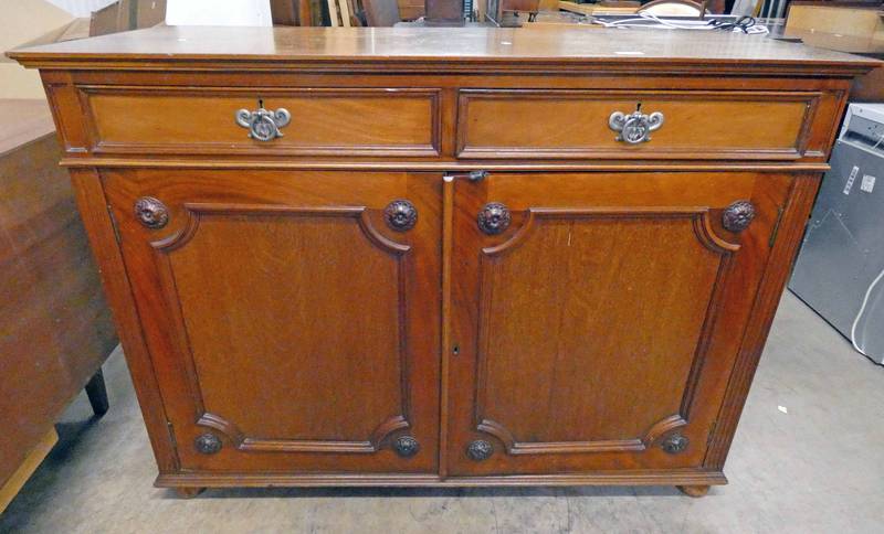
M 0 532 L 884 532 L 884 369 L 783 297 L 726 466 L 703 499 L 672 488 L 210 490 L 156 468 L 119 352 L 110 412 L 84 395 Z

